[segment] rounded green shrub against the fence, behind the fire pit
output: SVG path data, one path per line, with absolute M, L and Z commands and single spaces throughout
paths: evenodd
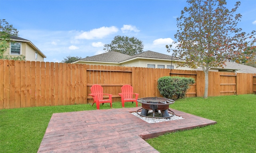
M 189 85 L 195 83 L 194 78 L 185 77 L 161 77 L 158 80 L 157 88 L 164 98 L 179 99 L 183 98 Z

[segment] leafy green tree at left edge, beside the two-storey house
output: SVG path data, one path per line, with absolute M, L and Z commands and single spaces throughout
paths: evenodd
M 4 56 L 4 52 L 10 47 L 8 42 L 11 41 L 11 35 L 18 36 L 18 30 L 6 22 L 5 19 L 0 19 L 0 59 L 25 60 L 24 55 Z

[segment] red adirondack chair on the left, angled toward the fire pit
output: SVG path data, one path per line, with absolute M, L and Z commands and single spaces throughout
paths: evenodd
M 104 103 L 110 103 L 110 107 L 112 108 L 112 94 L 104 94 L 102 86 L 94 84 L 91 87 L 91 94 L 89 95 L 93 97 L 93 104 L 96 103 L 97 110 L 100 109 L 100 103 L 102 103 L 102 105 Z M 108 95 L 108 99 L 103 99 L 103 95 Z

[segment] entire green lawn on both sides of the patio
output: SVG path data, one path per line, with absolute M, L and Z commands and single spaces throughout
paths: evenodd
M 126 103 L 126 107 L 135 104 Z M 256 96 L 176 100 L 171 108 L 218 122 L 146 140 L 160 153 L 251 153 L 256 148 Z M 100 109 L 109 109 L 109 104 Z M 113 108 L 122 108 L 120 102 Z M 53 113 L 96 110 L 89 104 L 0 110 L 0 152 L 36 153 Z

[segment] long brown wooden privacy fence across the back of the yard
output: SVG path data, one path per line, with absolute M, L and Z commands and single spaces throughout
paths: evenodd
M 121 101 L 124 84 L 132 85 L 139 98 L 161 96 L 157 80 L 164 76 L 170 69 L 0 60 L 0 109 L 92 103 L 93 84 L 113 94 L 113 102 Z M 204 96 L 203 71 L 172 70 L 172 76 L 196 80 L 186 97 Z M 209 72 L 208 96 L 255 91 L 255 74 Z

